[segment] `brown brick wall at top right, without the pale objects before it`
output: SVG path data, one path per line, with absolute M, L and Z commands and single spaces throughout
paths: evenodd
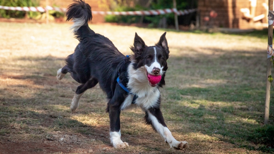
M 266 10 L 263 7 L 265 0 L 257 0 L 257 6 L 255 16 L 266 14 Z M 209 24 L 216 27 L 228 27 L 248 29 L 251 28 L 249 21 L 243 19 L 243 13 L 241 8 L 250 9 L 249 0 L 198 0 L 198 9 L 201 15 L 201 25 L 205 25 L 204 17 L 209 16 L 209 12 L 214 10 L 218 13 L 215 20 L 209 21 Z M 260 21 L 258 21 L 260 22 Z M 267 23 L 267 19 L 262 20 L 263 23 Z

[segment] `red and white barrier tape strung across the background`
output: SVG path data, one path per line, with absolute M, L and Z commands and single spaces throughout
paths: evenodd
M 1 6 L 0 9 L 5 10 L 16 10 L 16 11 L 34 11 L 34 12 L 46 12 L 46 10 L 55 10 L 58 12 L 66 12 L 66 8 L 60 8 L 60 7 L 50 7 L 47 6 L 45 8 L 43 7 L 7 7 L 7 6 Z M 168 13 L 175 13 L 177 15 L 187 15 L 192 12 L 197 11 L 197 9 L 188 9 L 188 10 L 177 10 L 175 8 L 173 9 L 159 9 L 159 10 L 148 10 L 148 11 L 121 11 L 121 12 L 111 12 L 111 11 L 92 11 L 92 14 L 100 14 L 100 15 L 164 15 Z

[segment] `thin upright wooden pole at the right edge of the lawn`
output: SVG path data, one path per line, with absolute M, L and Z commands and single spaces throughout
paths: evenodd
M 273 0 L 268 0 L 268 8 L 269 10 L 273 10 Z M 268 25 L 268 44 L 272 45 L 273 41 L 273 24 Z M 271 75 L 271 67 L 272 62 L 270 61 L 270 58 L 267 58 L 267 79 L 266 79 L 266 95 L 265 95 L 265 122 L 264 124 L 268 123 L 269 120 L 269 103 L 270 103 L 270 86 L 271 83 L 268 81 L 268 76 Z

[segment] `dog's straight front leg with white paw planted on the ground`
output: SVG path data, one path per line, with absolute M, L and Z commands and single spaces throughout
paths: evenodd
M 119 106 L 109 106 L 110 119 L 110 141 L 115 148 L 126 148 L 128 143 L 121 140 L 120 131 L 120 108 Z

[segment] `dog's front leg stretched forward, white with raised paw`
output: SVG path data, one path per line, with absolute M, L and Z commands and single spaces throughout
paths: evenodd
M 153 129 L 157 131 L 161 137 L 165 140 L 166 143 L 170 145 L 170 148 L 183 150 L 187 147 L 188 142 L 186 141 L 177 141 L 171 134 L 170 130 L 166 126 L 164 117 L 160 108 L 150 108 L 146 112 L 146 122 L 152 125 Z

